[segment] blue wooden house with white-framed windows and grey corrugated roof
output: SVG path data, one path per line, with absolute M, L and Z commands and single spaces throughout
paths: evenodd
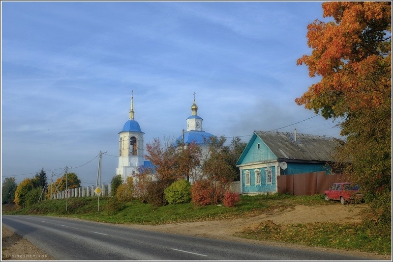
M 335 138 L 295 132 L 254 131 L 236 166 L 242 194 L 277 192 L 277 176 L 331 172 Z M 284 162 L 282 164 L 282 162 Z

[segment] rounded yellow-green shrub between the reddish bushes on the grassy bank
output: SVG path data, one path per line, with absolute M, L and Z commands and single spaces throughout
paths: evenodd
M 189 203 L 191 200 L 191 184 L 184 179 L 175 181 L 165 188 L 164 194 L 170 205 Z

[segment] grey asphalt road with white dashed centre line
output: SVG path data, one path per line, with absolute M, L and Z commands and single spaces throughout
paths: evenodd
M 56 260 L 366 260 L 71 218 L 3 215 L 2 224 Z

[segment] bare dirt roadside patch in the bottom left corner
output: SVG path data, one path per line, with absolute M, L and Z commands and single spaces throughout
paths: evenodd
M 1 260 L 53 260 L 28 240 L 1 226 Z

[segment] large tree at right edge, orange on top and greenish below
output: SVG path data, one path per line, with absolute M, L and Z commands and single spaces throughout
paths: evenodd
M 345 145 L 337 160 L 361 184 L 371 214 L 391 222 L 392 75 L 390 1 L 324 2 L 323 17 L 308 25 L 310 55 L 298 59 L 320 79 L 295 101 L 339 119 Z

